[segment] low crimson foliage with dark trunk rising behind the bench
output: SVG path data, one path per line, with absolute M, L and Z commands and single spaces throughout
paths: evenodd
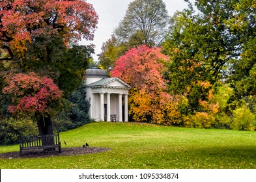
M 4 94 L 12 96 L 8 111 L 13 114 L 29 114 L 39 117 L 38 131 L 40 135 L 53 133 L 50 116 L 53 114 L 61 99 L 61 91 L 52 79 L 39 77 L 35 73 L 18 73 L 5 79 L 7 86 Z M 48 123 L 48 124 L 46 124 Z

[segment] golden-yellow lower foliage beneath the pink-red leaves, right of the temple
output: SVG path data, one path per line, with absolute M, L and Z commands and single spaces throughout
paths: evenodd
M 165 92 L 152 96 L 152 93 L 150 94 L 146 90 L 134 88 L 129 97 L 129 114 L 135 122 L 152 122 L 164 125 L 180 123 L 178 101 L 178 98 Z

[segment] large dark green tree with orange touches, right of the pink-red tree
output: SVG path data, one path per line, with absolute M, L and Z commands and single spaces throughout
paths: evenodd
M 223 70 L 240 56 L 240 35 L 229 19 L 236 17 L 238 1 L 195 1 L 172 18 L 172 28 L 164 51 L 173 60 L 169 65 L 170 89 L 186 94 L 190 112 L 200 111 L 214 83 L 223 78 Z M 210 83 L 205 86 L 203 83 Z

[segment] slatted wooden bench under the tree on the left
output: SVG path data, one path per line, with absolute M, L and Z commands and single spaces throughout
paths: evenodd
M 61 141 L 59 140 L 59 133 L 56 135 L 20 137 L 20 155 L 22 155 L 23 150 L 50 148 L 58 148 L 59 153 L 61 153 Z

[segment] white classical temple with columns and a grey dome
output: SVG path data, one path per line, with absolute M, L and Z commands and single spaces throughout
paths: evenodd
M 86 70 L 89 114 L 96 121 L 128 122 L 128 90 L 130 85 L 118 77 L 109 77 L 104 70 Z

